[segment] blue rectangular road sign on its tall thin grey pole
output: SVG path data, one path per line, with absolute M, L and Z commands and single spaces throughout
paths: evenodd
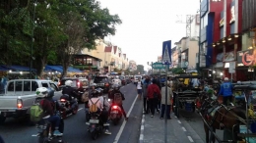
M 171 41 L 164 41 L 162 42 L 162 55 L 161 55 L 161 61 L 162 64 L 165 65 L 165 110 L 164 110 L 164 143 L 167 143 L 167 73 L 168 73 L 168 68 L 169 65 L 171 65 Z

